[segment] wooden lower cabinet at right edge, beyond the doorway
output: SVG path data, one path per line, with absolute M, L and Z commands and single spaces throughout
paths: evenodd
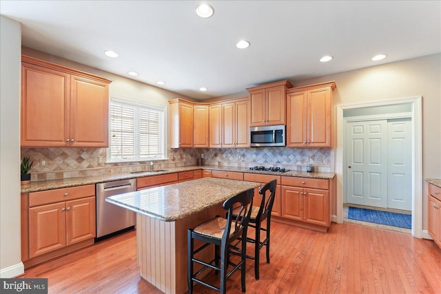
M 441 248 L 441 188 L 429 183 L 428 229 L 433 241 Z

